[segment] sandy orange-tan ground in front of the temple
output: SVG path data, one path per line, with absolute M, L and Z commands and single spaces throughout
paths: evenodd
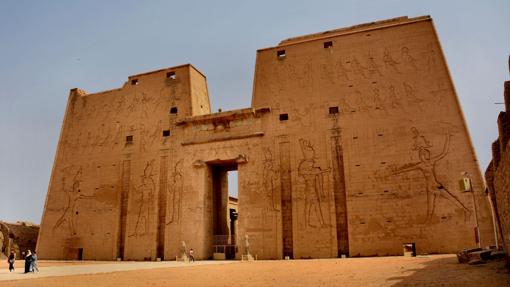
M 63 276 L 0 281 L 0 286 L 510 286 L 510 272 L 504 262 L 469 266 L 458 264 L 455 255 L 428 257 L 377 257 L 322 260 L 233 262 L 230 264 L 185 264 L 180 262 L 120 262 L 63 264 L 44 262 L 40 275 L 64 272 Z M 165 266 L 167 264 L 167 266 Z M 172 265 L 174 264 L 174 265 Z M 177 264 L 177 265 L 176 265 Z M 180 264 L 180 265 L 179 265 Z M 100 272 L 72 274 L 72 268 L 92 268 Z M 113 267 L 112 267 L 113 266 Z M 145 267 L 144 267 L 145 266 Z M 146 268 L 150 266 L 150 268 Z M 115 268 L 114 268 L 115 267 Z M 179 267 L 179 268 L 174 268 Z M 5 266 L 7 268 L 7 266 Z M 112 269 L 113 268 L 113 269 Z M 139 270 L 143 269 L 145 270 Z M 95 273 L 92 272 L 91 273 Z M 5 278 L 5 270 L 0 276 Z M 16 274 L 12 274 L 16 276 Z M 47 274 L 51 275 L 51 274 Z M 5 278 L 8 279 L 8 278 Z

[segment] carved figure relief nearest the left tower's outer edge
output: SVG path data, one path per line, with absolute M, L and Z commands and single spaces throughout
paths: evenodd
M 76 210 L 77 203 L 80 199 L 92 199 L 95 196 L 93 195 L 84 195 L 81 194 L 81 176 L 82 176 L 82 168 L 81 166 L 70 166 L 64 168 L 62 171 L 62 191 L 66 196 L 66 201 L 64 205 L 64 211 L 57 219 L 57 222 L 53 226 L 53 231 L 59 227 L 61 227 L 64 223 L 67 222 L 67 228 L 71 236 L 76 235 L 76 215 L 78 215 L 78 211 Z M 68 183 L 69 176 L 72 176 L 71 183 Z

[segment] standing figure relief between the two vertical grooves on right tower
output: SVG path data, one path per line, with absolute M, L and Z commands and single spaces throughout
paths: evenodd
M 327 194 L 324 190 L 324 173 L 330 169 L 322 169 L 317 166 L 315 150 L 310 141 L 299 139 L 303 159 L 298 166 L 298 175 L 305 181 L 305 225 L 317 227 L 311 221 L 311 217 L 317 218 L 319 227 L 327 227 L 325 210 L 327 207 Z

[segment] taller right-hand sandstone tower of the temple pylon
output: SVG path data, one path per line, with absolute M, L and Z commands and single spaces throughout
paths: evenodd
M 334 248 L 343 231 L 334 232 L 330 198 L 332 187 L 342 185 L 351 255 L 399 254 L 404 242 L 416 243 L 419 253 L 475 246 L 474 204 L 482 245 L 493 243 L 485 187 L 430 18 L 335 30 L 259 50 L 253 106 L 272 108 L 274 133 L 287 136 L 293 151 L 298 257 L 326 256 Z M 339 113 L 329 114 L 335 107 Z M 279 114 L 289 120 L 277 123 Z M 327 223 L 320 227 L 305 218 L 313 200 L 307 194 L 318 187 L 310 188 L 299 172 L 302 142 L 312 145 L 314 166 L 323 172 L 319 189 L 329 196 L 321 207 Z M 336 150 L 345 176 L 332 170 Z M 458 190 L 462 172 L 473 179 L 476 203 Z

